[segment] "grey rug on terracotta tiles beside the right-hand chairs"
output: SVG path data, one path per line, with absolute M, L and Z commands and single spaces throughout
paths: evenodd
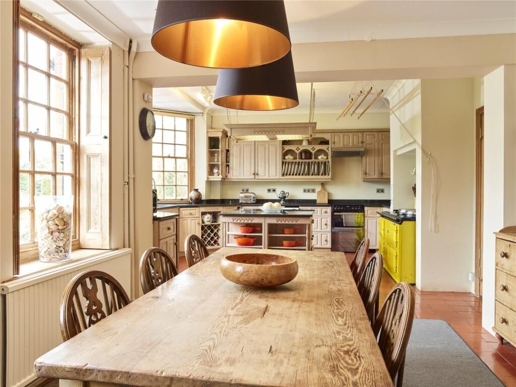
M 504 386 L 443 320 L 414 320 L 406 359 L 404 387 Z

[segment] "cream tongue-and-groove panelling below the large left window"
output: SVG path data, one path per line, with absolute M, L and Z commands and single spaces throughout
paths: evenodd
M 24 386 L 36 379 L 34 361 L 62 343 L 59 305 L 66 285 L 77 273 L 102 270 L 131 293 L 131 249 L 107 252 L 56 269 L 2 284 L 6 311 L 6 386 Z

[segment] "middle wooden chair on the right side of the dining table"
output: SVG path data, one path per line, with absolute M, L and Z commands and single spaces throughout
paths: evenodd
M 378 296 L 380 293 L 382 271 L 383 256 L 377 252 L 367 261 L 357 285 L 371 325 L 375 323 L 376 316 L 378 315 Z

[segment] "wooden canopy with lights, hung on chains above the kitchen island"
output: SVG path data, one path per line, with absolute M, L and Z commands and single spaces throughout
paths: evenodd
M 241 141 L 302 140 L 312 138 L 316 122 L 228 124 L 228 136 Z

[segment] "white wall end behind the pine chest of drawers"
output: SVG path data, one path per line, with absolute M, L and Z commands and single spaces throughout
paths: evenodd
M 484 214 L 482 327 L 494 325 L 495 237 L 516 224 L 516 66 L 484 77 Z

